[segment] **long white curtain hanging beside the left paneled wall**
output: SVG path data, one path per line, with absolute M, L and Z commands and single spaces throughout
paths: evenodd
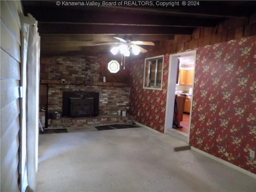
M 26 148 L 27 177 L 26 191 L 36 189 L 36 171 L 38 169 L 38 119 L 39 119 L 39 72 L 40 72 L 40 36 L 37 22 L 29 25 L 27 52 L 27 90 L 26 90 Z

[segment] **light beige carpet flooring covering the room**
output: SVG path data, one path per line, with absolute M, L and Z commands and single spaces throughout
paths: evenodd
M 256 180 L 146 128 L 39 135 L 37 192 L 255 192 Z

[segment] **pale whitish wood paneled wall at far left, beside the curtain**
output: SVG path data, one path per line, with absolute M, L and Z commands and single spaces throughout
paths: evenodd
M 19 191 L 18 148 L 20 130 L 20 18 L 19 1 L 1 5 L 1 192 Z

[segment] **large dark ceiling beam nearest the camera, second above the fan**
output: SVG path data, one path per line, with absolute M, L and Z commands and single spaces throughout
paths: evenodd
M 128 14 L 83 10 L 62 10 L 31 8 L 30 13 L 39 22 L 66 22 L 82 24 L 136 25 L 136 26 L 175 26 L 175 27 L 211 27 L 219 19 L 193 18 L 175 15 Z

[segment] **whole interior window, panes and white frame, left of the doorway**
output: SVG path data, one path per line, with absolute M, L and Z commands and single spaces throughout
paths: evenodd
M 145 59 L 144 89 L 162 89 L 163 61 L 163 55 Z

